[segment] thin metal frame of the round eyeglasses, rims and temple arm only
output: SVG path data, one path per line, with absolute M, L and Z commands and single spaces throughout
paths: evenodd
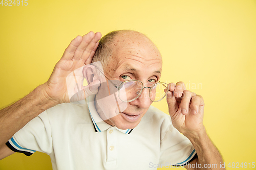
M 96 65 L 94 65 L 94 66 L 101 72 L 101 74 L 103 74 L 103 75 L 105 76 L 105 74 L 104 74 Z M 118 88 L 118 98 L 119 98 L 122 102 L 126 102 L 126 103 L 133 102 L 133 101 L 135 101 L 136 99 L 138 99 L 144 88 L 150 88 L 150 91 L 148 92 L 148 95 L 150 96 L 151 90 L 153 89 L 152 87 L 154 87 L 154 86 L 157 85 L 157 84 L 162 84 L 164 87 L 166 87 L 164 84 L 167 85 L 167 87 L 166 87 L 167 90 L 166 90 L 166 93 L 165 93 L 165 95 L 163 96 L 163 98 L 165 98 L 165 96 L 167 95 L 167 92 L 169 91 L 169 85 L 168 85 L 167 83 L 164 83 L 164 82 L 160 82 L 160 81 L 159 81 L 159 82 L 153 84 L 152 87 L 144 87 L 144 84 L 143 84 L 141 81 L 139 81 L 139 80 L 133 80 L 133 79 L 132 79 L 132 80 L 126 80 L 126 81 L 122 82 L 121 84 L 124 84 L 125 82 L 130 82 L 130 81 L 137 81 L 137 82 L 140 82 L 140 83 L 142 84 L 142 89 L 140 90 L 140 93 L 137 95 L 137 97 L 134 98 L 133 100 L 130 100 L 130 101 L 123 101 L 123 100 L 120 98 L 120 95 L 119 95 L 119 91 L 120 91 L 120 86 L 121 86 L 121 84 L 120 84 L 119 86 L 117 86 L 117 84 L 113 83 L 108 77 L 105 76 L 105 78 L 107 78 L 107 79 L 113 84 L 113 86 L 114 86 L 115 88 Z M 163 99 L 163 98 L 162 98 L 162 99 Z M 159 101 L 161 101 L 162 99 L 160 99 L 160 100 L 158 100 L 158 101 L 152 101 L 151 98 L 150 98 L 151 102 L 159 102 Z

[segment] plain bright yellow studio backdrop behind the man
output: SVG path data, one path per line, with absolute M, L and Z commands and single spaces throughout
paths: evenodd
M 255 0 L 27 2 L 0 5 L 0 107 L 46 82 L 77 35 L 132 29 L 159 47 L 161 81 L 203 96 L 204 125 L 226 167 L 256 162 Z M 168 113 L 164 101 L 156 106 Z M 39 152 L 0 161 L 0 169 L 51 168 Z

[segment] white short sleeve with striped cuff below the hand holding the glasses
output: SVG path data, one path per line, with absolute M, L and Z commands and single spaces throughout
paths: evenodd
M 159 163 L 182 166 L 190 162 L 195 155 L 193 144 L 170 123 L 160 142 Z

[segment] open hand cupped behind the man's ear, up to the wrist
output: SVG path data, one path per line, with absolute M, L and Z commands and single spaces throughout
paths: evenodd
M 98 47 L 101 33 L 89 32 L 83 37 L 77 36 L 66 48 L 63 56 L 55 65 L 51 77 L 43 84 L 45 97 L 56 104 L 69 103 L 66 78 L 77 68 L 91 64 Z

